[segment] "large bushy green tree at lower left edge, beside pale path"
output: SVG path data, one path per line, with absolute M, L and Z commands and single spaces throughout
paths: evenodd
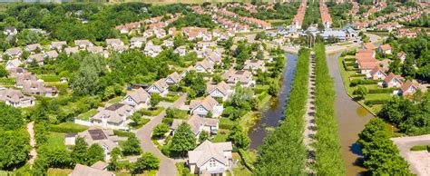
M 10 170 L 24 164 L 31 149 L 29 142 L 25 131 L 0 129 L 0 170 Z

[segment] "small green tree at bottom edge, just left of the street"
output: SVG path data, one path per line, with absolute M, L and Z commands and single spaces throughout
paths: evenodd
M 142 157 L 137 159 L 133 164 L 133 174 L 140 174 L 143 171 L 158 170 L 160 167 L 160 159 L 151 152 L 144 152 Z

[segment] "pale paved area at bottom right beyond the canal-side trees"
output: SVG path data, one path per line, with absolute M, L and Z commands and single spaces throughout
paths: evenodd
M 430 153 L 427 151 L 411 152 L 415 145 L 430 145 L 430 134 L 391 139 L 400 150 L 400 155 L 409 163 L 412 173 L 430 175 Z

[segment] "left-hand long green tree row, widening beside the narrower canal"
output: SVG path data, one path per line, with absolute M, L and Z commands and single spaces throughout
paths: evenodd
M 304 115 L 308 99 L 309 50 L 298 51 L 297 70 L 292 83 L 285 121 L 269 132 L 259 148 L 254 175 L 305 175 L 307 152 L 303 143 Z

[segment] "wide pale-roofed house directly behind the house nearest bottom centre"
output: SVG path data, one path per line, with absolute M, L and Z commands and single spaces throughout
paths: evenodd
M 219 130 L 220 121 L 218 119 L 213 118 L 204 118 L 199 115 L 191 115 L 191 117 L 187 120 L 181 119 L 173 119 L 171 122 L 171 130 L 174 131 L 178 129 L 178 127 L 182 124 L 182 122 L 186 122 L 190 125 L 191 131 L 194 133 L 196 137 L 199 137 L 200 132 L 208 132 L 210 134 L 216 134 Z

